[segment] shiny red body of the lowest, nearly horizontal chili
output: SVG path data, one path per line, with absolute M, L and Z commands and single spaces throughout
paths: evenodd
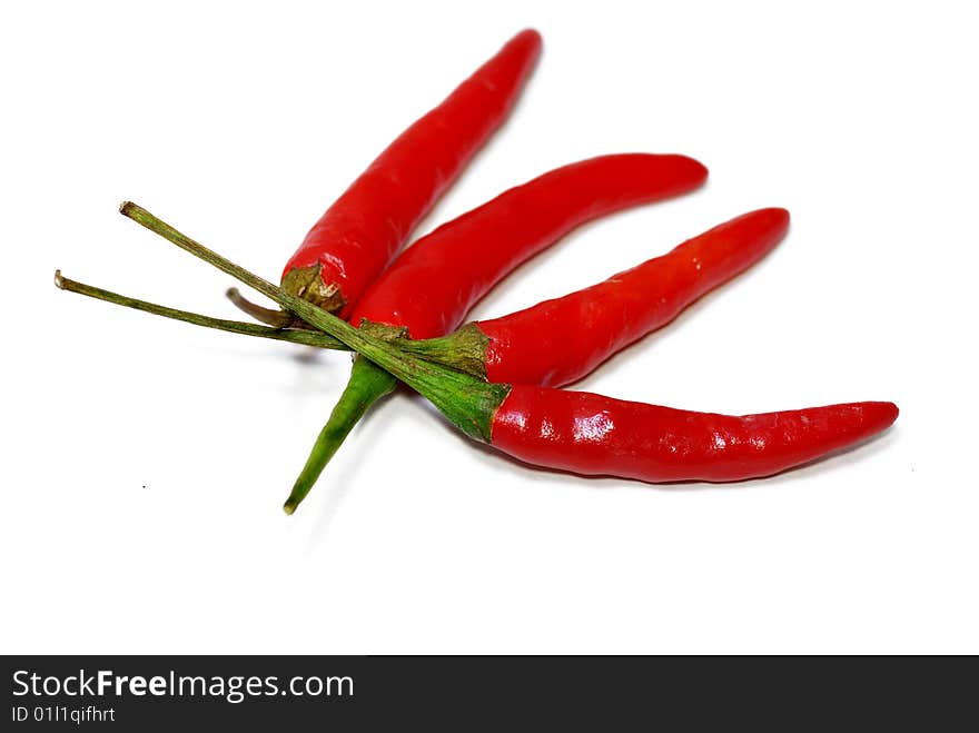
M 897 406 L 881 402 L 735 417 L 514 385 L 490 442 L 535 466 L 586 476 L 732 482 L 856 445 L 897 417 Z

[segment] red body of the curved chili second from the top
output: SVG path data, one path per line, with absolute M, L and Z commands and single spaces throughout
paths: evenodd
M 582 160 L 511 188 L 408 247 L 367 290 L 350 323 L 406 326 L 412 338 L 457 327 L 518 265 L 575 227 L 701 186 L 708 170 L 678 155 Z

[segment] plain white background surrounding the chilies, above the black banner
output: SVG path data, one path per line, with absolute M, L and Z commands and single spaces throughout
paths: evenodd
M 970 3 L 4 3 L 7 653 L 979 652 Z M 236 317 L 138 201 L 270 279 L 514 32 L 545 51 L 419 231 L 584 157 L 701 191 L 522 268 L 492 317 L 735 215 L 779 249 L 578 388 L 693 409 L 891 399 L 860 450 L 732 486 L 528 469 L 400 394 L 280 511 L 348 358 L 56 290 Z

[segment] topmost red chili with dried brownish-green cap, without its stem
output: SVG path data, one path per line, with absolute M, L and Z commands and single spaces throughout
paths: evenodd
M 306 235 L 283 287 L 349 314 L 412 229 L 500 127 L 541 52 L 525 30 L 370 164 Z

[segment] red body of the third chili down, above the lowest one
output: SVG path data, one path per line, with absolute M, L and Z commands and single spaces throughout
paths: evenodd
M 788 228 L 785 209 L 752 211 L 604 283 L 477 321 L 490 339 L 486 378 L 554 387 L 575 382 L 756 263 Z

